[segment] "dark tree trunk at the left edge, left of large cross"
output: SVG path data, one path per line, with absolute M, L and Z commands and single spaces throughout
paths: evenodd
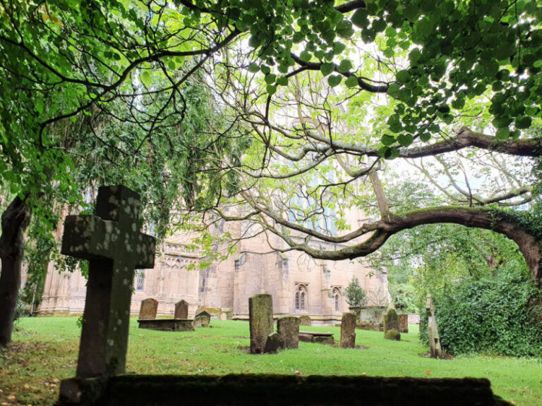
M 30 209 L 25 200 L 16 197 L 1 217 L 0 237 L 0 348 L 11 341 L 13 316 L 20 288 L 20 266 L 23 260 L 23 238 L 30 223 Z

